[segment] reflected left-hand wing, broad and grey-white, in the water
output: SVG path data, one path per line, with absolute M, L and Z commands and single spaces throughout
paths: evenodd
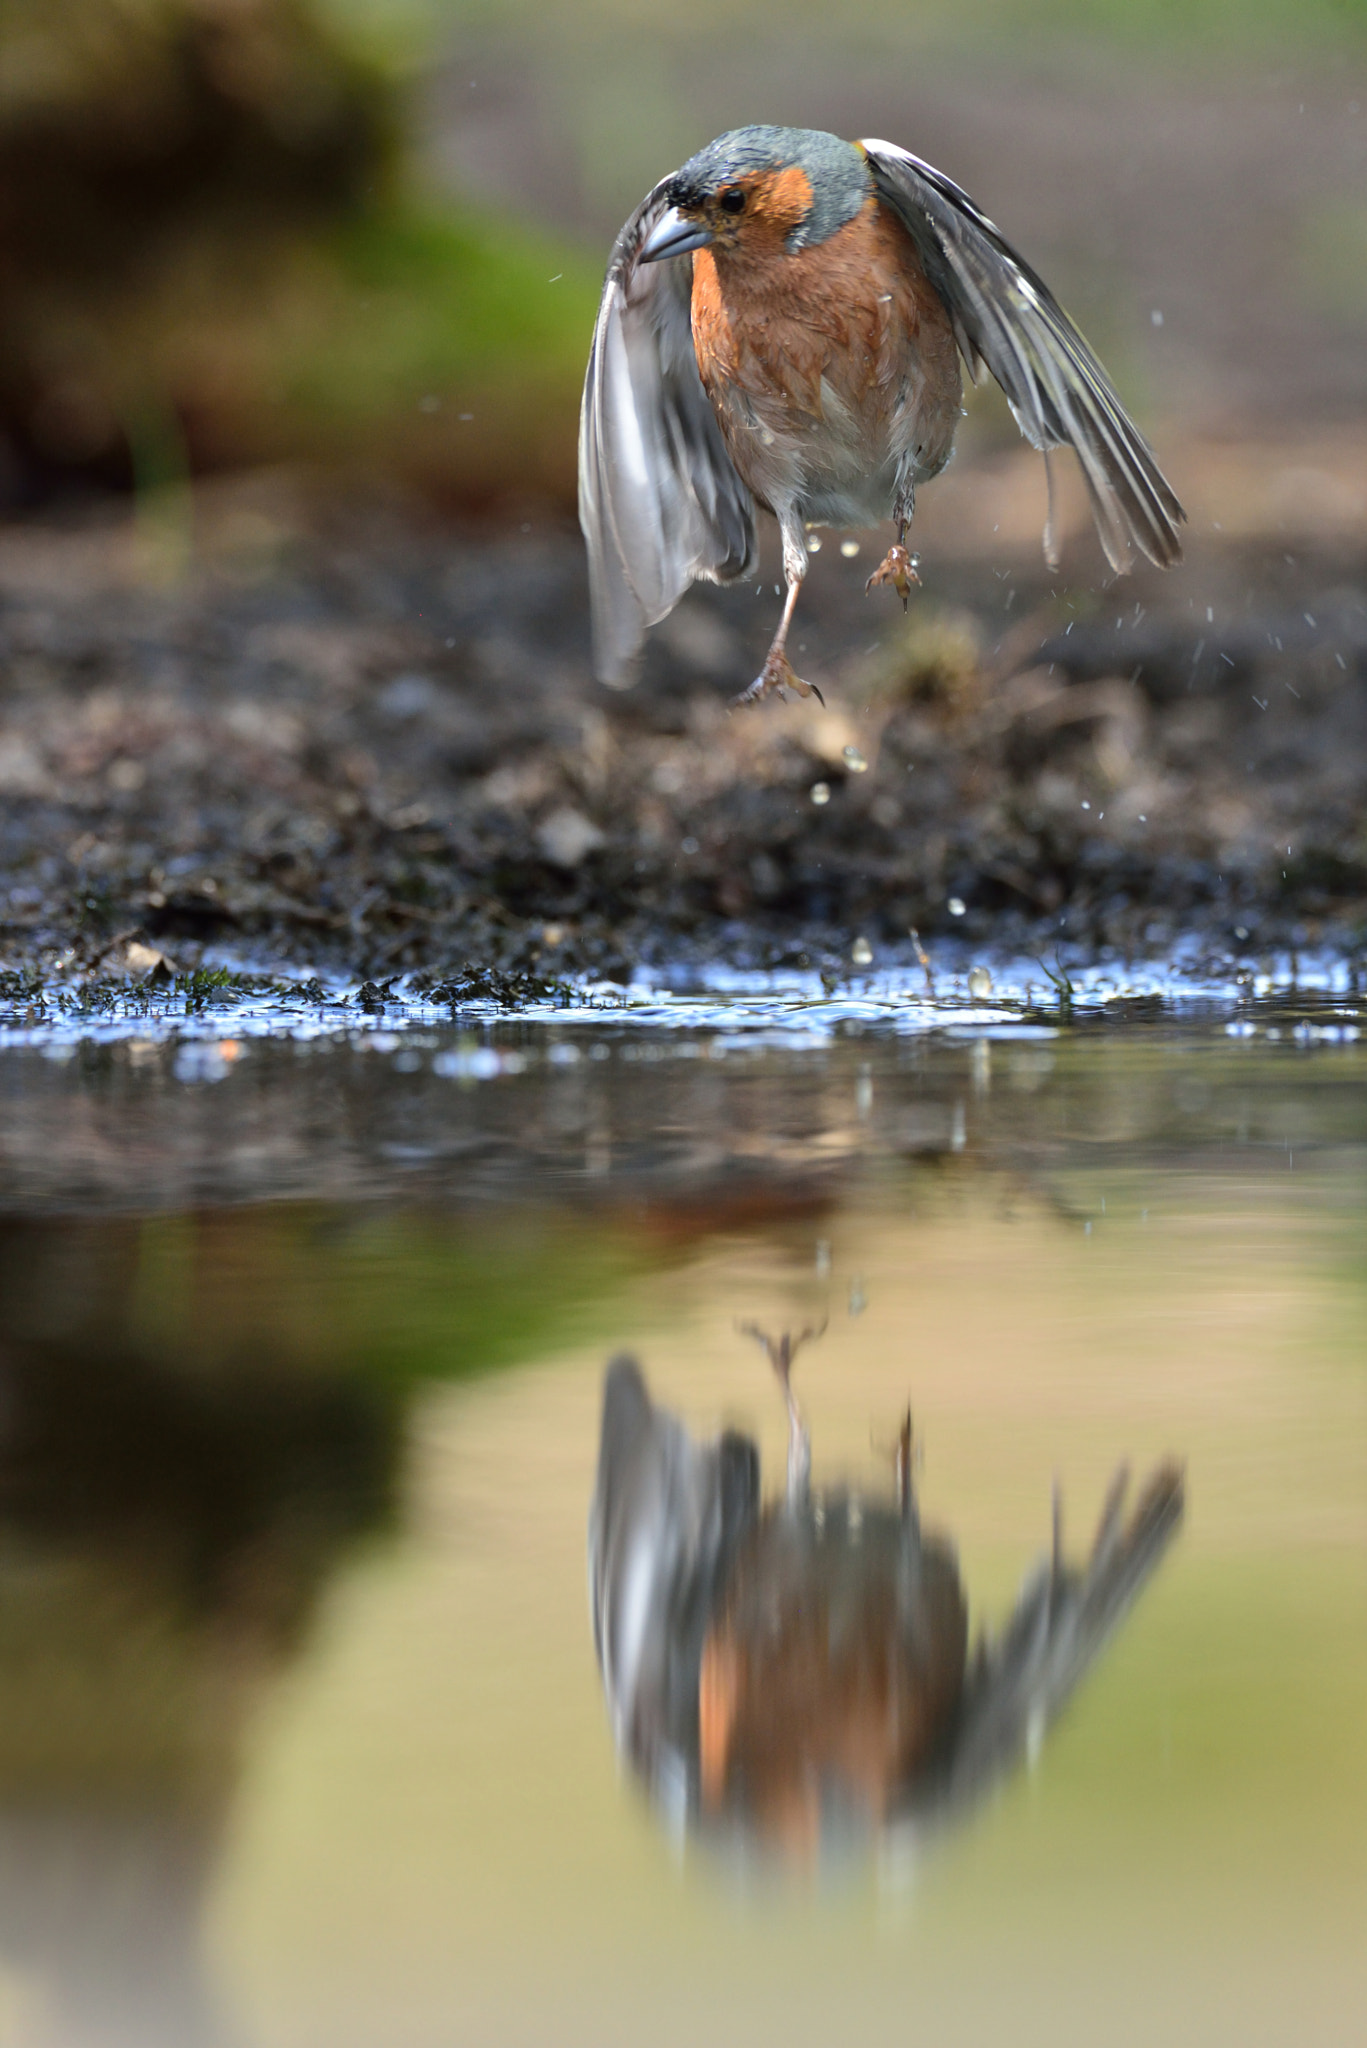
M 676 1810 L 697 1776 L 703 1636 L 758 1491 L 754 1444 L 695 1444 L 635 1360 L 613 1360 L 588 1518 L 594 1649 L 617 1747 Z

